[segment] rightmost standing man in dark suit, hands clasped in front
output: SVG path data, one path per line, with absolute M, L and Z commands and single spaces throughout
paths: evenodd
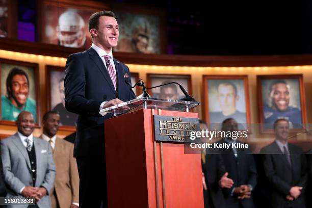
M 273 124 L 275 141 L 262 148 L 264 169 L 272 186 L 274 208 L 305 207 L 307 184 L 306 159 L 300 147 L 288 143 L 289 121 L 277 119 Z

